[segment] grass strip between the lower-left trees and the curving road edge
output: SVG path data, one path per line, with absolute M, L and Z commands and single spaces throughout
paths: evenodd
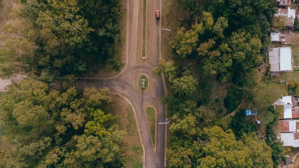
M 125 168 L 143 168 L 139 163 L 143 156 L 139 132 L 132 107 L 121 97 L 112 95 L 113 103 L 106 108 L 108 113 L 120 116 L 117 123 L 120 130 L 126 131 L 127 135 L 123 144 L 120 145 L 121 152 L 126 154 Z

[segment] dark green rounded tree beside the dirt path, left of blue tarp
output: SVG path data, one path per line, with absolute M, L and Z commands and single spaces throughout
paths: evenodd
M 227 88 L 227 96 L 224 99 L 224 105 L 227 109 L 227 114 L 233 112 L 238 108 L 241 103 L 241 98 L 243 95 L 243 90 L 238 89 L 233 85 L 228 86 Z

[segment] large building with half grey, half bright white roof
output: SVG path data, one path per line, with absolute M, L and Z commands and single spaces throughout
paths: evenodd
M 269 49 L 271 72 L 293 71 L 291 47 L 277 47 Z

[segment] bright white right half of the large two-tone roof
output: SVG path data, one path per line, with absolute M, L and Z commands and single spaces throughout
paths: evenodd
M 292 70 L 292 50 L 291 47 L 281 47 L 280 50 L 280 70 Z

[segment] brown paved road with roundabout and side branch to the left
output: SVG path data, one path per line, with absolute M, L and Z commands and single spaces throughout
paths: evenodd
M 83 90 L 85 87 L 103 88 L 108 87 L 111 93 L 116 93 L 125 98 L 133 106 L 139 134 L 144 149 L 145 168 L 162 168 L 165 163 L 165 125 L 157 123 L 165 122 L 164 105 L 160 104 L 163 97 L 163 81 L 160 76 L 154 76 L 151 69 L 158 65 L 160 50 L 160 21 L 155 20 L 155 10 L 159 9 L 159 0 L 148 0 L 152 11 L 148 11 L 148 48 L 147 58 L 141 59 L 142 43 L 142 11 L 140 11 L 141 0 L 129 0 L 130 14 L 127 20 L 127 64 L 120 75 L 106 79 L 80 79 L 77 83 L 77 89 Z M 129 11 L 129 9 L 128 9 Z M 128 38 L 129 37 L 129 38 Z M 149 77 L 149 88 L 146 92 L 140 92 L 138 89 L 138 78 L 146 74 Z M 3 81 L 3 80 L 2 80 Z M 0 85 L 7 85 L 7 81 L 0 81 Z M 6 83 L 4 83 L 6 82 Z M 59 83 L 59 82 L 58 82 Z M 0 88 L 3 88 L 0 87 Z M 156 143 L 153 147 L 149 125 L 145 115 L 148 106 L 153 106 L 157 111 L 156 121 Z M 154 137 L 153 137 L 154 138 Z

